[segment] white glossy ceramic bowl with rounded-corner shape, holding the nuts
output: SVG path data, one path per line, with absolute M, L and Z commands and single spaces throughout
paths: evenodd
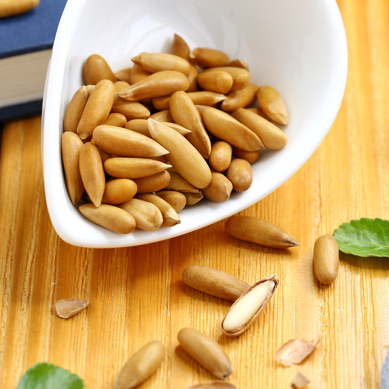
M 279 90 L 289 112 L 287 145 L 262 153 L 247 192 L 225 203 L 202 200 L 181 224 L 122 235 L 85 219 L 71 204 L 60 154 L 63 116 L 83 85 L 85 59 L 98 53 L 117 71 L 141 52 L 170 52 L 174 33 L 190 48 L 223 50 L 250 68 L 252 82 Z M 58 235 L 82 247 L 147 244 L 197 230 L 248 208 L 311 156 L 339 109 L 347 74 L 344 27 L 335 0 L 68 0 L 47 73 L 42 159 L 47 207 Z

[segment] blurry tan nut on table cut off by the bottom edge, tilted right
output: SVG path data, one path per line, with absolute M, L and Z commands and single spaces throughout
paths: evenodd
M 135 388 L 154 374 L 165 358 L 165 346 L 158 340 L 147 343 L 125 363 L 119 372 L 115 389 Z

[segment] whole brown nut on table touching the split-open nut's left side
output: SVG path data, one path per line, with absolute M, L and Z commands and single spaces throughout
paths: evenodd
M 188 286 L 229 301 L 235 301 L 250 286 L 248 283 L 222 270 L 208 266 L 192 265 L 182 272 Z

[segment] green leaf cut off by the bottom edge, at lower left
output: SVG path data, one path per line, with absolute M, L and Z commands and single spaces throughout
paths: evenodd
M 84 389 L 76 374 L 46 362 L 36 363 L 21 376 L 17 389 Z

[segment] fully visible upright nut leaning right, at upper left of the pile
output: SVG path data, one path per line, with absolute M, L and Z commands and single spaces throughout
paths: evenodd
M 98 125 L 105 122 L 112 108 L 115 94 L 115 86 L 109 80 L 99 81 L 90 92 L 77 126 L 77 134 L 81 139 L 88 138 Z

